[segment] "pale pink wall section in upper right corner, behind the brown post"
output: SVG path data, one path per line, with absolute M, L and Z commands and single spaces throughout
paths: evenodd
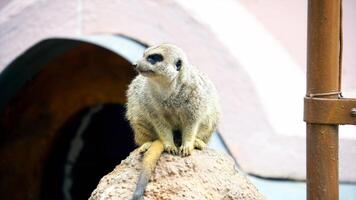
M 307 0 L 240 0 L 306 69 Z M 343 89 L 356 91 L 356 1 L 343 0 Z M 354 92 L 353 92 L 354 93 Z M 354 93 L 356 94 L 356 93 Z

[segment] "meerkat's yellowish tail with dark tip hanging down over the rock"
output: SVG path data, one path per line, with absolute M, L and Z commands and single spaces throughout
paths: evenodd
M 145 188 L 163 151 L 164 147 L 162 142 L 160 140 L 155 140 L 145 152 L 142 161 L 143 168 L 138 178 L 132 200 L 140 200 L 143 197 Z

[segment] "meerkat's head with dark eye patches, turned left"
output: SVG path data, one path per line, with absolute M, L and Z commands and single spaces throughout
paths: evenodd
M 137 62 L 136 70 L 148 78 L 173 80 L 187 66 L 185 53 L 172 44 L 152 46 Z

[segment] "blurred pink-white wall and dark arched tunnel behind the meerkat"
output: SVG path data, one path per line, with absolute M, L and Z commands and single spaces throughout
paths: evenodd
M 356 2 L 343 1 L 342 89 L 356 97 Z M 0 0 L 0 194 L 86 199 L 135 146 L 131 65 L 181 47 L 215 83 L 212 148 L 268 199 L 305 199 L 307 1 Z M 356 129 L 340 127 L 340 199 L 356 199 Z

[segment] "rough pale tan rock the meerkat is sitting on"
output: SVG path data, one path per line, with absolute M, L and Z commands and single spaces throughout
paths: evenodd
M 139 175 L 142 155 L 132 152 L 104 176 L 90 200 L 131 199 Z M 236 168 L 233 159 L 221 152 L 195 150 L 191 156 L 162 154 L 144 200 L 259 200 L 265 199 Z

